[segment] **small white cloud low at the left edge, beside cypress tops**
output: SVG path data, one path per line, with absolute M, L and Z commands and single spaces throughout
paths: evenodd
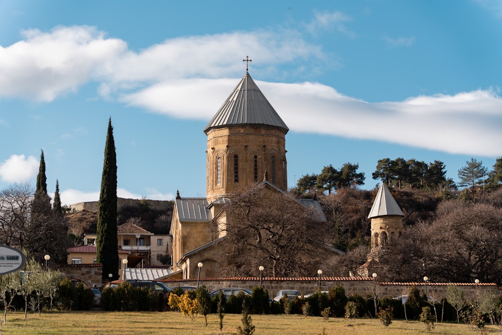
M 33 156 L 12 155 L 0 165 L 0 178 L 8 183 L 26 182 L 37 175 L 39 165 Z

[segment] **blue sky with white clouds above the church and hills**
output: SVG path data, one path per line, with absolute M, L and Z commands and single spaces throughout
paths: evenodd
M 0 189 L 99 197 L 108 118 L 118 196 L 205 196 L 203 129 L 245 73 L 290 128 L 288 184 L 379 159 L 502 156 L 501 1 L 0 0 Z

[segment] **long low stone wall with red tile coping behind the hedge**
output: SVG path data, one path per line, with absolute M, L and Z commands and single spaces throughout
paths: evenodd
M 167 286 L 176 288 L 181 285 L 197 286 L 197 279 L 195 280 L 162 280 Z M 199 286 L 204 285 L 209 291 L 222 287 L 240 287 L 253 290 L 254 287 L 260 286 L 260 278 L 243 277 L 243 278 L 204 278 L 199 280 Z M 360 295 L 367 297 L 373 291 L 373 287 L 379 292 L 380 297 L 396 297 L 399 295 L 408 294 L 411 287 L 415 286 L 423 294 L 425 291 L 424 282 L 416 283 L 387 283 L 387 282 L 373 282 L 373 278 L 367 277 L 321 277 L 320 286 L 321 291 L 329 291 L 336 285 L 340 285 L 345 289 L 345 294 Z M 373 286 L 374 285 L 374 286 Z M 446 297 L 446 290 L 448 285 L 456 285 L 464 291 L 465 298 L 472 300 L 477 293 L 492 292 L 495 295 L 502 295 L 500 290 L 494 283 L 431 283 L 427 282 L 427 295 L 436 300 Z M 302 294 L 316 292 L 319 289 L 318 277 L 304 277 L 304 278 L 269 278 L 262 279 L 262 287 L 267 289 L 269 295 L 273 297 L 280 290 L 298 290 Z

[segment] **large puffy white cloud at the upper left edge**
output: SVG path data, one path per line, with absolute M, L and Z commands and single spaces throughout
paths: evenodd
M 97 67 L 126 49 L 91 27 L 23 32 L 24 40 L 0 46 L 0 94 L 52 101 L 86 83 Z

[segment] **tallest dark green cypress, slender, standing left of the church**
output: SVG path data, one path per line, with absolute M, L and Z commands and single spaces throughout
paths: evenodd
M 103 265 L 102 278 L 118 279 L 118 242 L 117 242 L 117 160 L 111 118 L 104 147 L 103 174 L 98 202 L 96 239 L 96 261 Z

